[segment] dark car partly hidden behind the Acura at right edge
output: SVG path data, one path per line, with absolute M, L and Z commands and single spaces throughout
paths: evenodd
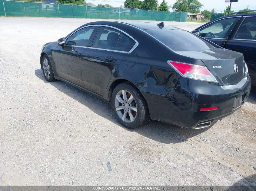
M 252 85 L 256 85 L 256 10 L 225 15 L 193 30 L 219 46 L 244 54 Z

